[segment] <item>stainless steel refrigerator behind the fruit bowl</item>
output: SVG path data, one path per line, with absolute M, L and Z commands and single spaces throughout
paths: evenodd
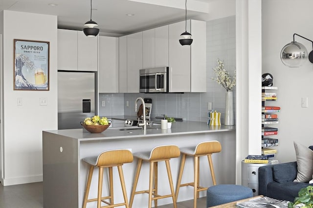
M 58 129 L 81 129 L 97 112 L 95 72 L 58 71 Z

